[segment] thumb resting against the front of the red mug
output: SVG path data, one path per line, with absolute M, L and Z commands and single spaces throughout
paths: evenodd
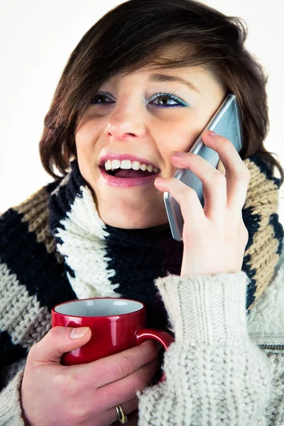
M 34 361 L 60 364 L 62 354 L 80 348 L 89 342 L 91 336 L 89 327 L 53 327 L 40 342 L 33 345 L 30 354 Z

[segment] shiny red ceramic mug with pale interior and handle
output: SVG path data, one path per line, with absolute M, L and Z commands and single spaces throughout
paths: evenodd
M 146 305 L 137 300 L 92 297 L 60 303 L 51 310 L 51 326 L 58 325 L 92 331 L 89 342 L 62 355 L 65 366 L 96 361 L 149 339 L 158 340 L 165 350 L 174 342 L 167 332 L 146 328 Z M 160 381 L 164 380 L 165 374 Z

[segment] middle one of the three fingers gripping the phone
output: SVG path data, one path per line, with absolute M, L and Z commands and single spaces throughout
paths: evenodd
M 226 178 L 200 155 L 172 155 L 173 164 L 189 168 L 202 181 L 204 214 L 214 222 L 222 222 L 226 212 Z

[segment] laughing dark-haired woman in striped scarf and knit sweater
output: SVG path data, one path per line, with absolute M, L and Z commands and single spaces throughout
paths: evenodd
M 55 180 L 0 221 L 1 425 L 284 422 L 283 170 L 263 146 L 266 77 L 245 39 L 239 18 L 204 4 L 131 0 L 70 55 L 40 141 Z M 214 169 L 188 151 L 229 92 L 244 146 L 204 132 Z M 204 209 L 177 168 L 202 180 Z M 145 302 L 175 342 L 62 366 L 91 332 L 50 330 L 51 307 L 98 296 Z

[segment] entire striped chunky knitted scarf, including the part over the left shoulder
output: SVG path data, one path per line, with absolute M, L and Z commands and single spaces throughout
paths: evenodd
M 249 231 L 241 268 L 249 278 L 248 315 L 273 279 L 284 232 L 278 218 L 280 180 L 257 155 L 244 163 L 251 172 L 242 209 Z M 139 300 L 147 307 L 147 326 L 173 335 L 155 280 L 180 275 L 182 241 L 173 239 L 170 226 L 153 232 L 104 224 L 76 160 L 65 178 L 7 210 L 0 235 L 0 365 L 6 366 L 0 388 L 50 329 L 51 307 L 67 300 Z

